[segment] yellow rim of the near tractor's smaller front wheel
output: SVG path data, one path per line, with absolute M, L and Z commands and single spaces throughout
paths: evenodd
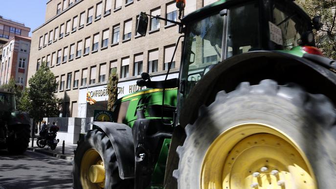
M 81 162 L 80 179 L 83 189 L 104 188 L 104 162 L 97 150 L 90 148 L 85 152 Z

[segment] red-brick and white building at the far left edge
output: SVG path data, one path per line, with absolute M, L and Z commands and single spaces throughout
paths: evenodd
M 14 36 L 3 44 L 0 67 L 0 85 L 8 84 L 13 78 L 19 86 L 27 83 L 31 38 Z

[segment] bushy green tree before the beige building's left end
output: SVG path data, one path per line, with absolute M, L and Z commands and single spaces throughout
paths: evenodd
M 28 83 L 29 88 L 26 88 L 21 99 L 21 108 L 26 108 L 35 121 L 42 121 L 44 117 L 56 117 L 59 99 L 54 92 L 58 83 L 49 67 L 42 63 Z

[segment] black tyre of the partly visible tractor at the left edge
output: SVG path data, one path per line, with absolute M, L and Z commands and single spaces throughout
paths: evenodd
M 7 149 L 10 153 L 21 154 L 29 145 L 29 126 L 13 126 L 14 130 L 11 136 L 7 138 Z

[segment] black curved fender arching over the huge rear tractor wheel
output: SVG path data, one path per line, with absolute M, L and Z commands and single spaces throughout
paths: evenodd
M 335 69 L 330 70 L 325 60 L 279 51 L 252 51 L 213 66 L 189 91 L 180 109 L 179 124 L 185 127 L 194 123 L 200 107 L 214 102 L 217 92 L 224 90 L 228 93 L 242 82 L 253 85 L 265 79 L 280 85 L 299 84 L 310 93 L 324 94 L 336 104 Z

